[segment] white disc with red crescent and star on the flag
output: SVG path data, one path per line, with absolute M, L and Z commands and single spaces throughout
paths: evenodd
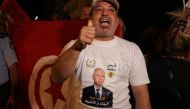
M 29 101 L 32 109 L 84 109 L 80 105 L 81 85 L 75 76 L 63 84 L 55 84 L 50 78 L 51 65 L 58 56 L 40 58 L 29 80 Z

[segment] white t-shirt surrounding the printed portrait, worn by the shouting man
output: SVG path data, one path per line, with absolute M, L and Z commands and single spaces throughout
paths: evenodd
M 82 89 L 93 85 L 92 73 L 97 67 L 104 69 L 103 86 L 113 93 L 112 109 L 131 109 L 129 84 L 138 86 L 150 82 L 140 48 L 136 44 L 116 36 L 111 41 L 94 40 L 91 45 L 81 51 L 76 71 L 77 76 L 81 79 Z M 93 109 L 106 108 L 109 104 L 106 104 L 105 101 L 97 102 L 92 95 L 90 96 L 90 100 L 86 100 L 87 103 L 81 101 L 82 104 Z

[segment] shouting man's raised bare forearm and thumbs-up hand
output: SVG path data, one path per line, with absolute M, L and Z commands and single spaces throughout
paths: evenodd
M 92 26 L 92 21 L 89 20 L 88 26 L 84 26 L 79 38 L 64 52 L 54 63 L 52 67 L 52 80 L 57 83 L 62 83 L 71 74 L 75 72 L 75 65 L 78 60 L 79 54 L 86 44 L 91 44 L 95 37 L 95 28 Z

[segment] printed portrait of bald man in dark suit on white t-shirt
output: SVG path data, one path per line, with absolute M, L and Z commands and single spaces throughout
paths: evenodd
M 82 103 L 89 106 L 111 108 L 113 104 L 113 93 L 103 87 L 105 80 L 105 71 L 102 68 L 96 68 L 92 74 L 94 84 L 83 88 Z

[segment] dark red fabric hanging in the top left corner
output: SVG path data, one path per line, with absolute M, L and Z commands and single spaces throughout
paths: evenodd
M 20 7 L 16 0 L 3 0 L 0 10 L 6 11 L 12 17 L 15 23 L 31 21 L 29 16 Z

